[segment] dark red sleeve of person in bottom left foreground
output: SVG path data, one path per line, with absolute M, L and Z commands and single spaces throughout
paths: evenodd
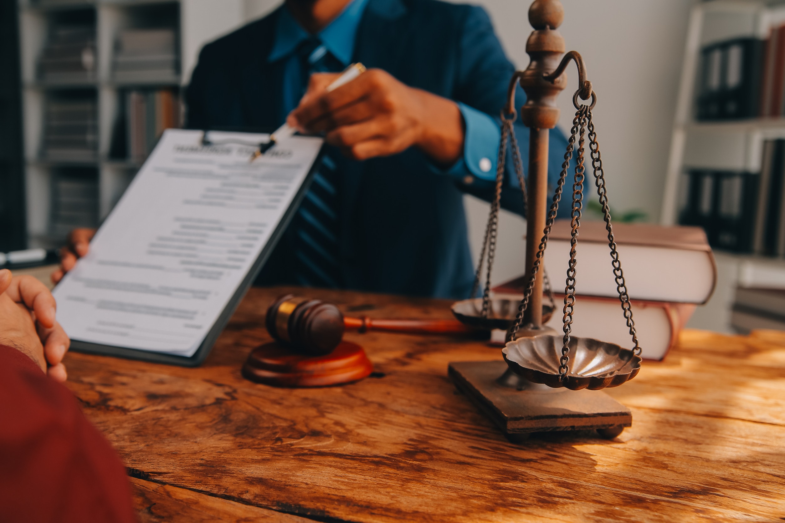
M 136 521 L 125 467 L 71 391 L 0 345 L 0 513 L 16 521 Z

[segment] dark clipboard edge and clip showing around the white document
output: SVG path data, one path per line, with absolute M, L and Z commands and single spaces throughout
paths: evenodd
M 249 131 L 249 129 L 236 128 L 221 128 L 210 130 L 227 131 L 232 133 L 247 133 Z M 253 131 L 254 133 L 260 132 L 258 129 L 253 129 Z M 204 133 L 208 133 L 208 131 L 204 131 Z M 298 208 L 302 202 L 302 199 L 305 198 L 305 194 L 309 191 L 313 176 L 318 171 L 319 165 L 321 165 L 324 149 L 324 143 L 322 143 L 318 154 L 316 154 L 316 159 L 312 162 L 309 171 L 305 176 L 305 180 L 301 183 L 298 191 L 296 194 L 294 194 L 294 198 L 291 200 L 290 205 L 279 220 L 278 225 L 275 227 L 274 231 L 272 231 L 272 234 L 270 234 L 268 241 L 261 249 L 261 252 L 257 256 L 256 260 L 254 260 L 252 263 L 250 271 L 246 272 L 234 294 L 228 300 L 223 311 L 221 311 L 221 314 L 219 314 L 217 320 L 214 321 L 213 325 L 206 333 L 206 336 L 204 336 L 202 343 L 199 345 L 199 348 L 195 351 L 194 354 L 192 354 L 192 356 L 186 357 L 177 354 L 157 352 L 154 350 L 139 350 L 127 347 L 115 347 L 108 344 L 91 343 L 82 340 L 71 340 L 71 350 L 86 354 L 102 354 L 119 358 L 151 361 L 153 363 L 180 365 L 184 367 L 197 367 L 201 365 L 207 358 L 207 355 L 210 354 L 210 350 L 212 350 L 218 336 L 220 336 L 221 332 L 223 332 L 225 329 L 229 319 L 232 318 L 232 314 L 234 314 L 236 308 L 239 306 L 240 301 L 243 300 L 243 296 L 245 296 L 248 289 L 250 289 L 250 286 L 261 272 L 262 267 L 264 267 L 277 243 L 283 237 L 283 234 L 290 225 L 294 215 L 298 212 Z

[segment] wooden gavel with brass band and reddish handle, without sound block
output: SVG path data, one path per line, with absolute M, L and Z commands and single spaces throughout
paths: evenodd
M 375 320 L 350 318 L 332 303 L 294 294 L 279 297 L 267 310 L 267 332 L 276 341 L 308 354 L 329 354 L 341 343 L 346 329 L 357 332 L 386 331 L 410 334 L 459 334 L 477 332 L 458 320 Z

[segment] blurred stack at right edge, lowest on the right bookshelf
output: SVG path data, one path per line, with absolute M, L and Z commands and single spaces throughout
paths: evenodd
M 785 330 L 785 290 L 736 289 L 731 325 L 748 334 L 754 329 Z

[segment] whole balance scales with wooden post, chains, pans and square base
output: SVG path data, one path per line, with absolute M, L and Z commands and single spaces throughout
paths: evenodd
M 615 438 L 624 427 L 632 424 L 632 413 L 600 389 L 617 387 L 637 375 L 641 369 L 641 347 L 638 344 L 630 299 L 616 251 L 611 215 L 605 190 L 602 158 L 592 110 L 597 95 L 586 79 L 586 66 L 579 53 L 564 54 L 564 38 L 557 27 L 564 19 L 564 8 L 558 0 L 535 0 L 528 12 L 534 27 L 526 43 L 531 62 L 525 71 L 516 71 L 509 83 L 506 107 L 502 110 L 502 139 L 499 146 L 495 199 L 491 202 L 484 245 L 477 267 L 472 296 L 476 296 L 487 257 L 484 293 L 455 303 L 455 317 L 480 329 L 506 329 L 504 361 L 452 362 L 449 374 L 456 387 L 490 417 L 511 441 L 522 441 L 533 432 L 553 430 L 597 430 L 603 438 Z M 578 67 L 579 89 L 572 97 L 575 118 L 572 121 L 567 151 L 560 178 L 548 205 L 548 133 L 557 125 L 559 109 L 556 100 L 566 87 L 565 69 L 571 61 Z M 528 187 L 524 182 L 520 154 L 513 130 L 517 118 L 515 89 L 517 83 L 527 95 L 521 107 L 521 119 L 529 129 Z M 588 133 L 588 135 L 587 135 Z M 586 136 L 589 138 L 594 184 L 604 213 L 608 231 L 612 270 L 619 291 L 626 325 L 634 343 L 633 350 L 612 343 L 571 336 L 572 312 L 575 305 L 576 245 L 582 212 L 585 181 Z M 524 194 L 527 216 L 526 272 L 524 297 L 517 309 L 509 299 L 490 295 L 498 210 L 504 183 L 506 145 L 511 143 L 513 164 L 520 189 Z M 576 147 L 577 142 L 577 149 Z M 571 207 L 571 250 L 564 292 L 563 336 L 543 325 L 553 314 L 555 303 L 550 285 L 543 288 L 545 254 L 564 185 L 575 156 Z M 550 304 L 542 303 L 543 290 Z M 516 300 L 517 301 L 517 300 Z

